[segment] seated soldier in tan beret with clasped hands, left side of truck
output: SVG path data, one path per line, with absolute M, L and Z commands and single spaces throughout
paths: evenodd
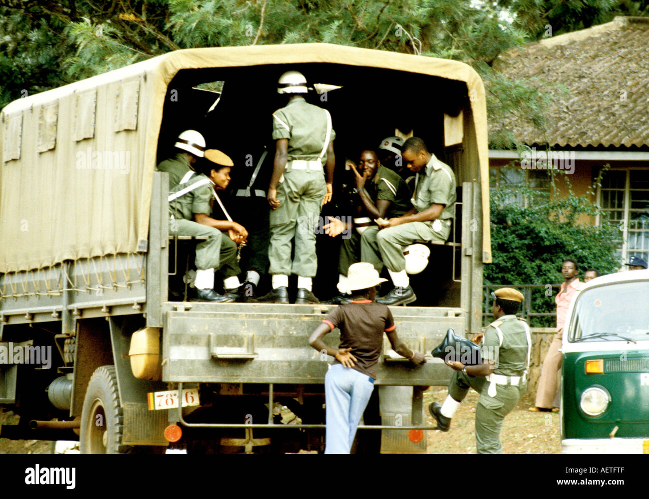
M 230 181 L 232 160 L 215 149 L 208 149 L 204 156 L 209 163 L 199 164 L 198 170 L 208 175 L 190 171 L 183 175 L 184 182 L 169 191 L 169 233 L 208 237 L 196 246 L 196 300 L 227 303 L 238 298 L 241 284 L 237 277 L 237 246 L 245 242 L 248 233 L 236 222 L 208 216 L 212 212 L 214 188 L 223 189 Z M 227 231 L 228 237 L 221 231 Z M 223 295 L 214 291 L 215 269 L 225 276 Z

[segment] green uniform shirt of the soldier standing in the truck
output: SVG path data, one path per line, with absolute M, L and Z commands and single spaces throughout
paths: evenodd
M 288 138 L 288 161 L 318 159 L 326 137 L 326 111 L 304 97 L 291 100 L 273 113 L 273 140 Z M 329 142 L 336 138 L 332 129 Z M 326 151 L 323 164 L 326 162 Z

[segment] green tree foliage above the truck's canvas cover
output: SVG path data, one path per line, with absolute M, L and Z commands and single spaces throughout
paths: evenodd
M 167 51 L 329 42 L 472 64 L 498 111 L 530 105 L 522 82 L 491 71 L 509 47 L 606 21 L 647 15 L 649 0 L 0 0 L 0 105 Z M 515 90 L 515 91 L 512 91 Z M 497 115 L 496 115 L 497 116 Z M 536 119 L 536 118 L 535 118 Z M 496 138 L 504 144 L 507 138 Z

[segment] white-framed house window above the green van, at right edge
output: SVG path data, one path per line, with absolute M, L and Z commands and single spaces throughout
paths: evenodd
M 622 231 L 620 262 L 649 258 L 649 168 L 615 168 L 602 174 L 598 188 L 602 216 Z

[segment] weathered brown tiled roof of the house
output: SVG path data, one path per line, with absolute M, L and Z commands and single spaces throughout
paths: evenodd
M 550 83 L 546 129 L 520 116 L 509 129 L 525 144 L 550 147 L 649 145 L 649 18 L 617 17 L 610 23 L 509 51 L 495 67 L 509 79 Z M 567 90 L 567 92 L 566 92 Z

